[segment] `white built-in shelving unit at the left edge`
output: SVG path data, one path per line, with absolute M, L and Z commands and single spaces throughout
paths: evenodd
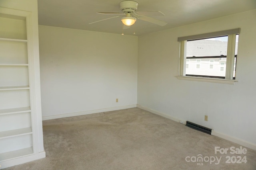
M 38 141 L 42 139 L 38 131 L 42 130 L 42 119 L 37 112 L 41 108 L 36 107 L 40 99 L 35 90 L 30 17 L 30 12 L 0 7 L 1 168 L 45 157 L 39 149 L 42 141 Z

